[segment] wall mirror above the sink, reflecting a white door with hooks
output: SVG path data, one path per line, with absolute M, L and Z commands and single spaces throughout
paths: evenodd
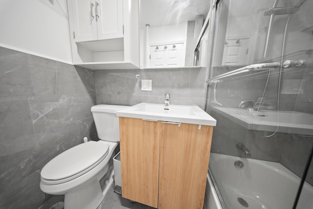
M 210 0 L 140 0 L 140 68 L 195 66 Z M 206 33 L 207 34 L 207 33 Z M 203 39 L 202 39 L 203 42 Z M 207 42 L 207 35 L 205 45 Z M 198 51 L 206 50 L 201 44 Z M 205 65 L 198 56 L 198 66 Z M 201 60 L 202 57 L 202 60 Z

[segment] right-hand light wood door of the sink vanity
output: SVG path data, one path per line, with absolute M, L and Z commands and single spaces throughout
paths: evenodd
M 202 209 L 212 126 L 162 123 L 158 209 Z

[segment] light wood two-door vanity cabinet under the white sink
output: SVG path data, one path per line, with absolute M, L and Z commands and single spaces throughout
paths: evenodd
M 202 209 L 213 126 L 120 117 L 122 196 L 159 209 Z

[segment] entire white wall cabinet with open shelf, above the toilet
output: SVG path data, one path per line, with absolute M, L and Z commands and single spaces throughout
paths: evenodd
M 139 0 L 67 0 L 73 64 L 139 68 Z

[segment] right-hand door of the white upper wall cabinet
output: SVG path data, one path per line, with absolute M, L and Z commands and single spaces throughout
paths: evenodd
M 123 0 L 96 0 L 98 39 L 123 37 Z

